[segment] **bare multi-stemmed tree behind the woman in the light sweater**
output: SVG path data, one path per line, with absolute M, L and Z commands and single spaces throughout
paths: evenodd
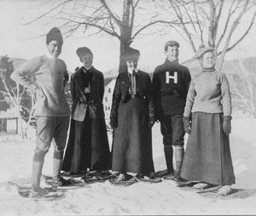
M 218 70 L 223 66 L 225 54 L 241 43 L 252 29 L 256 16 L 253 0 L 168 1 L 181 23 L 173 28 L 185 36 L 194 52 L 196 44 L 215 48 Z M 241 26 L 243 28 L 239 28 Z

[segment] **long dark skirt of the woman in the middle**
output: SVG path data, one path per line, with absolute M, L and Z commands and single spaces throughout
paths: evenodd
M 113 131 L 113 171 L 154 172 L 152 133 L 148 119 L 148 103 L 143 99 L 131 98 L 125 103 L 120 101 L 118 128 Z

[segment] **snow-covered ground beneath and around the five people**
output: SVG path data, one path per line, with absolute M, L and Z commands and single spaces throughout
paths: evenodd
M 32 138 L 33 139 L 33 138 Z M 19 135 L 0 134 L 0 215 L 134 215 L 134 214 L 255 214 L 256 196 L 221 200 L 179 190 L 166 182 L 114 187 L 108 182 L 66 190 L 55 201 L 21 198 L 15 186 L 30 181 L 34 141 Z M 111 139 L 111 138 L 110 138 Z M 110 140 L 111 141 L 111 140 Z M 165 169 L 159 124 L 153 128 L 154 166 Z M 234 119 L 230 148 L 236 174 L 234 188 L 256 189 L 256 120 Z M 44 173 L 51 172 L 52 149 L 45 158 Z M 44 186 L 44 183 L 42 183 Z

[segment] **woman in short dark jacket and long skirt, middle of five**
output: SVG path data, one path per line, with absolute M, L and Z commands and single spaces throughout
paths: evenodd
M 119 73 L 113 90 L 110 126 L 113 128 L 112 170 L 117 181 L 130 173 L 150 178 L 154 172 L 151 128 L 154 125 L 154 101 L 148 73 L 137 69 L 140 52 L 128 48 L 127 69 Z

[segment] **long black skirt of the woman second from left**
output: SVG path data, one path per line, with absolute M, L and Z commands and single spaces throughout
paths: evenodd
M 110 169 L 111 156 L 105 119 L 90 119 L 87 110 L 84 122 L 71 120 L 67 149 L 61 170 L 80 173 Z

